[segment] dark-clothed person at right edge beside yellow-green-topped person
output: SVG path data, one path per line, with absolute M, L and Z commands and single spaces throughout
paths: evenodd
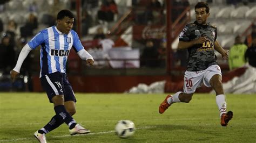
M 252 46 L 247 48 L 245 60 L 249 62 L 249 65 L 256 68 L 256 37 L 253 37 Z

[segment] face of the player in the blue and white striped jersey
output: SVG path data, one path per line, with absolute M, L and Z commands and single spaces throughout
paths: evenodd
M 74 24 L 74 18 L 64 17 L 57 21 L 58 30 L 62 33 L 69 34 Z

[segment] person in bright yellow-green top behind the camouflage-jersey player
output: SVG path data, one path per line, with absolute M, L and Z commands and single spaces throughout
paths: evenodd
M 241 37 L 238 35 L 235 37 L 235 43 L 230 48 L 230 55 L 228 57 L 228 66 L 230 70 L 239 68 L 245 65 L 245 52 L 247 46 L 241 42 Z

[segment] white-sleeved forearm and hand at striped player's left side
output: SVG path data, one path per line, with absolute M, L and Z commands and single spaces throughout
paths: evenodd
M 21 66 L 22 63 L 24 62 L 24 60 L 26 59 L 26 56 L 28 56 L 29 52 L 32 49 L 29 47 L 28 44 L 26 44 L 23 48 L 21 53 L 19 53 L 19 58 L 17 60 L 16 66 L 14 69 L 11 70 L 11 80 L 15 81 L 15 78 L 18 76 L 19 74 L 19 70 L 21 70 Z

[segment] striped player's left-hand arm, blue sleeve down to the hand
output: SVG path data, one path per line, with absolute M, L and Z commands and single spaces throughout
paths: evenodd
M 43 31 L 42 31 L 43 32 Z M 35 37 L 33 37 L 28 44 L 26 44 L 23 48 L 21 53 L 19 53 L 19 57 L 16 63 L 16 66 L 14 69 L 11 70 L 11 80 L 14 82 L 15 78 L 18 76 L 19 71 L 21 70 L 22 63 L 26 59 L 26 56 L 28 56 L 29 52 L 32 49 L 35 49 L 38 47 L 42 42 L 44 41 L 44 34 L 42 32 L 39 32 Z

